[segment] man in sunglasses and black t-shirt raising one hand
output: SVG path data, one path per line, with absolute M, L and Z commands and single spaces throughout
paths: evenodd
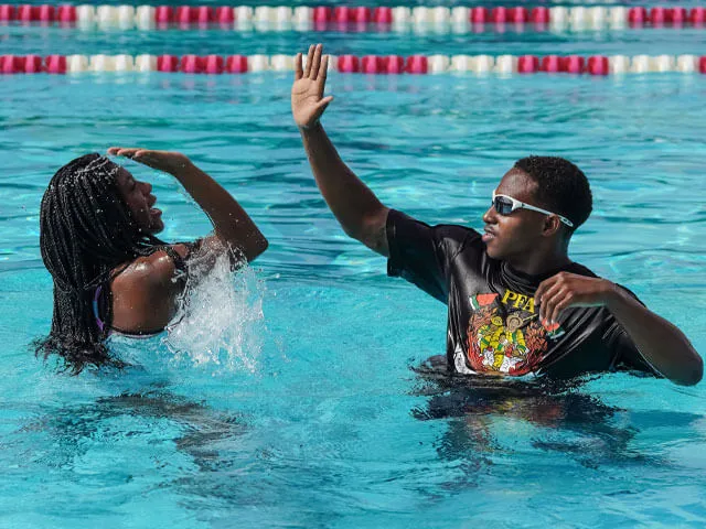
M 327 204 L 354 239 L 449 307 L 447 365 L 458 374 L 571 378 L 618 368 L 694 385 L 703 360 L 686 336 L 630 291 L 568 257 L 590 215 L 584 173 L 560 158 L 520 160 L 502 177 L 479 234 L 428 226 L 384 206 L 343 163 L 319 119 L 328 56 L 296 61 L 292 114 Z

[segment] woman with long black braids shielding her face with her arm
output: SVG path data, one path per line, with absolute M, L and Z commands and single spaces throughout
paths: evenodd
M 97 153 L 77 158 L 52 177 L 40 210 L 42 259 L 54 280 L 54 315 L 38 355 L 58 355 L 77 374 L 120 366 L 105 344 L 110 332 L 150 335 L 173 319 L 185 287 L 185 260 L 197 247 L 234 250 L 253 261 L 267 239 L 235 198 L 176 152 L 110 148 L 173 175 L 214 225 L 213 235 L 169 245 L 152 186 Z

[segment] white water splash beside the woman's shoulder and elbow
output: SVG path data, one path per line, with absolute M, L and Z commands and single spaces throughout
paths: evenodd
M 229 373 L 257 368 L 265 285 L 248 266 L 233 271 L 233 258 L 223 245 L 190 257 L 185 294 L 163 339 L 173 361 Z

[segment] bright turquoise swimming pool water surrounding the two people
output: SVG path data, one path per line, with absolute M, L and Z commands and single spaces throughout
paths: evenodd
M 122 34 L 9 34 L 14 53 L 145 48 Z M 582 44 L 494 35 L 479 45 L 631 54 L 655 34 Z M 227 53 L 233 35 L 207 35 L 167 33 L 149 53 L 184 53 L 184 39 Z M 700 44 L 700 33 L 670 35 L 659 39 L 666 53 Z M 243 46 L 289 53 L 309 36 L 250 35 Z M 416 39 L 381 37 L 378 47 L 323 35 L 335 54 L 456 45 Z M 329 79 L 336 99 L 324 125 L 342 156 L 384 203 L 427 222 L 481 227 L 515 159 L 576 161 L 596 207 L 574 259 L 629 285 L 706 350 L 706 79 Z M 703 385 L 620 374 L 547 393 L 448 388 L 410 369 L 443 352 L 446 307 L 387 279 L 384 259 L 342 234 L 310 175 L 289 88 L 276 73 L 0 76 L 0 526 L 703 525 Z M 217 281 L 202 292 L 202 320 L 178 337 L 176 360 L 159 339 L 118 341 L 139 363 L 127 373 L 56 375 L 28 352 L 51 321 L 39 201 L 65 161 L 136 143 L 191 155 L 253 214 L 270 250 L 232 295 Z M 173 181 L 130 169 L 156 185 L 164 238 L 208 228 Z M 210 354 L 204 344 L 218 333 L 237 344 Z

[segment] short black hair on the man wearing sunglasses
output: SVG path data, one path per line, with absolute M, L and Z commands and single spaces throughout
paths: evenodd
M 559 156 L 527 156 L 515 162 L 537 184 L 537 201 L 546 209 L 564 215 L 576 230 L 591 214 L 593 197 L 588 179 L 574 163 Z

